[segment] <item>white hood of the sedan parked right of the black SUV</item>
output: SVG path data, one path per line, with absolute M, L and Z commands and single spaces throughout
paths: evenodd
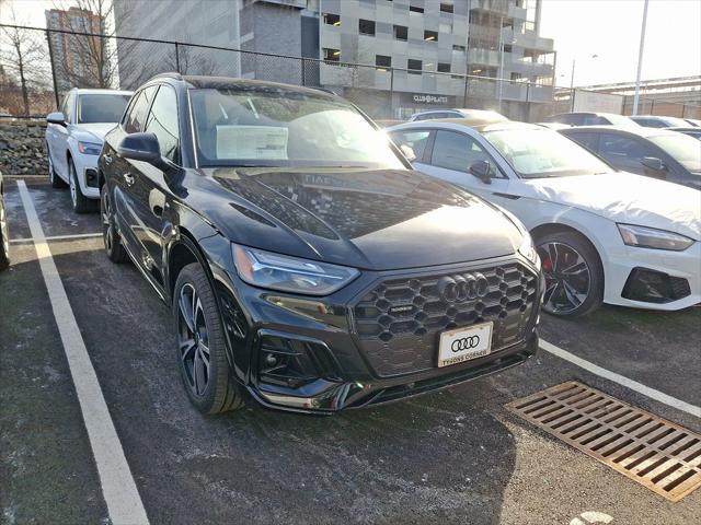
M 524 197 L 701 240 L 701 192 L 630 173 L 525 179 Z

